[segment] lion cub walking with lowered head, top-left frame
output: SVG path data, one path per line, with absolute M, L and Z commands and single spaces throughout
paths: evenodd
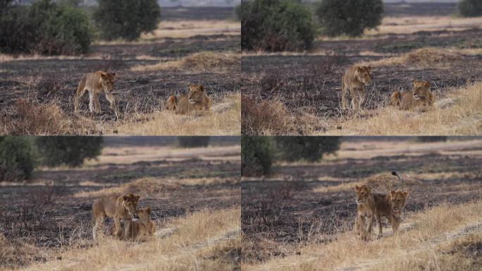
M 102 93 L 111 103 L 111 109 L 116 110 L 116 99 L 112 95 L 115 78 L 116 73 L 106 73 L 105 71 L 96 71 L 82 76 L 77 92 L 75 92 L 74 111 L 79 112 L 79 100 L 86 90 L 89 92 L 90 112 L 100 113 L 99 95 Z

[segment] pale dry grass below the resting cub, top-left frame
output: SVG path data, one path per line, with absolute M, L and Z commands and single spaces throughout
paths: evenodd
M 214 104 L 207 116 L 187 116 L 162 111 L 142 123 L 127 121 L 116 127 L 125 135 L 240 135 L 241 95 L 234 94 Z

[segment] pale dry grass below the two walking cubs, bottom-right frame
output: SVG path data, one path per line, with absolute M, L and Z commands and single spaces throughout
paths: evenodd
M 326 245 L 312 243 L 299 248 L 298 255 L 244 265 L 243 270 L 392 270 L 390 263 L 396 260 L 416 261 L 420 253 L 464 240 L 467 233 L 480 233 L 481 226 L 482 201 L 439 205 L 409 217 L 398 236 L 385 230 L 383 239 L 367 243 L 344 232 Z

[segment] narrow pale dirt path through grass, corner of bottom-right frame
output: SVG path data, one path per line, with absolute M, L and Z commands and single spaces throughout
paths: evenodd
M 405 225 L 405 227 L 409 227 L 409 225 Z M 414 249 L 407 251 L 406 253 L 402 254 L 397 254 L 397 258 L 408 258 L 409 256 L 414 256 L 418 253 L 428 251 L 429 249 L 435 248 L 435 246 L 439 246 L 443 243 L 450 243 L 452 241 L 455 241 L 456 239 L 459 239 L 462 236 L 465 236 L 466 234 L 471 234 L 474 232 L 481 232 L 482 231 L 482 221 L 478 221 L 474 224 L 467 225 L 466 227 L 463 227 L 462 229 L 459 229 L 457 231 L 450 231 L 446 232 L 444 234 L 440 234 L 439 236 L 429 239 L 426 243 L 424 243 L 421 248 Z M 393 258 L 393 255 L 390 254 L 390 258 Z M 341 267 L 338 268 L 337 270 L 342 270 L 342 271 L 354 271 L 354 270 L 369 270 L 371 267 L 374 267 L 375 265 L 383 263 L 387 258 L 376 258 L 373 260 L 365 261 L 362 263 L 359 263 L 357 265 L 351 265 L 348 267 Z

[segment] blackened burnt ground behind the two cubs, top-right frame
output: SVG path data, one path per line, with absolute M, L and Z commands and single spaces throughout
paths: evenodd
M 416 5 L 419 4 L 409 6 Z M 435 4 L 424 5 L 433 6 Z M 449 7 L 445 6 L 445 8 Z M 412 12 L 412 10 L 414 8 L 409 8 L 407 12 Z M 393 16 L 391 13 L 389 15 Z M 410 16 L 418 15 L 427 14 L 414 13 Z M 242 94 L 261 100 L 280 100 L 285 104 L 288 112 L 297 116 L 312 114 L 319 117 L 343 119 L 340 111 L 341 78 L 349 66 L 360 61 L 376 61 L 390 56 L 399 56 L 424 47 L 482 48 L 481 36 L 481 28 L 461 31 L 420 31 L 414 34 L 384 34 L 373 35 L 366 40 L 316 40 L 312 51 L 323 51 L 326 56 L 246 56 L 242 58 L 241 64 Z M 366 55 L 366 52 L 375 54 Z M 429 80 L 433 85 L 432 91 L 435 92 L 435 95 L 443 98 L 446 97 L 450 88 L 460 87 L 478 80 L 481 77 L 481 71 L 482 56 L 480 54 L 462 55 L 457 61 L 447 64 L 447 67 L 416 68 L 411 66 L 405 68 L 395 65 L 373 68 L 373 83 L 366 88 L 364 107 L 376 109 L 384 106 L 393 91 L 409 90 L 415 78 Z M 325 126 L 316 127 L 316 124 L 314 125 L 316 131 L 326 131 Z M 285 132 L 290 133 L 290 131 Z M 242 128 L 242 133 L 251 133 L 251 131 Z M 297 133 L 304 132 L 297 131 Z

